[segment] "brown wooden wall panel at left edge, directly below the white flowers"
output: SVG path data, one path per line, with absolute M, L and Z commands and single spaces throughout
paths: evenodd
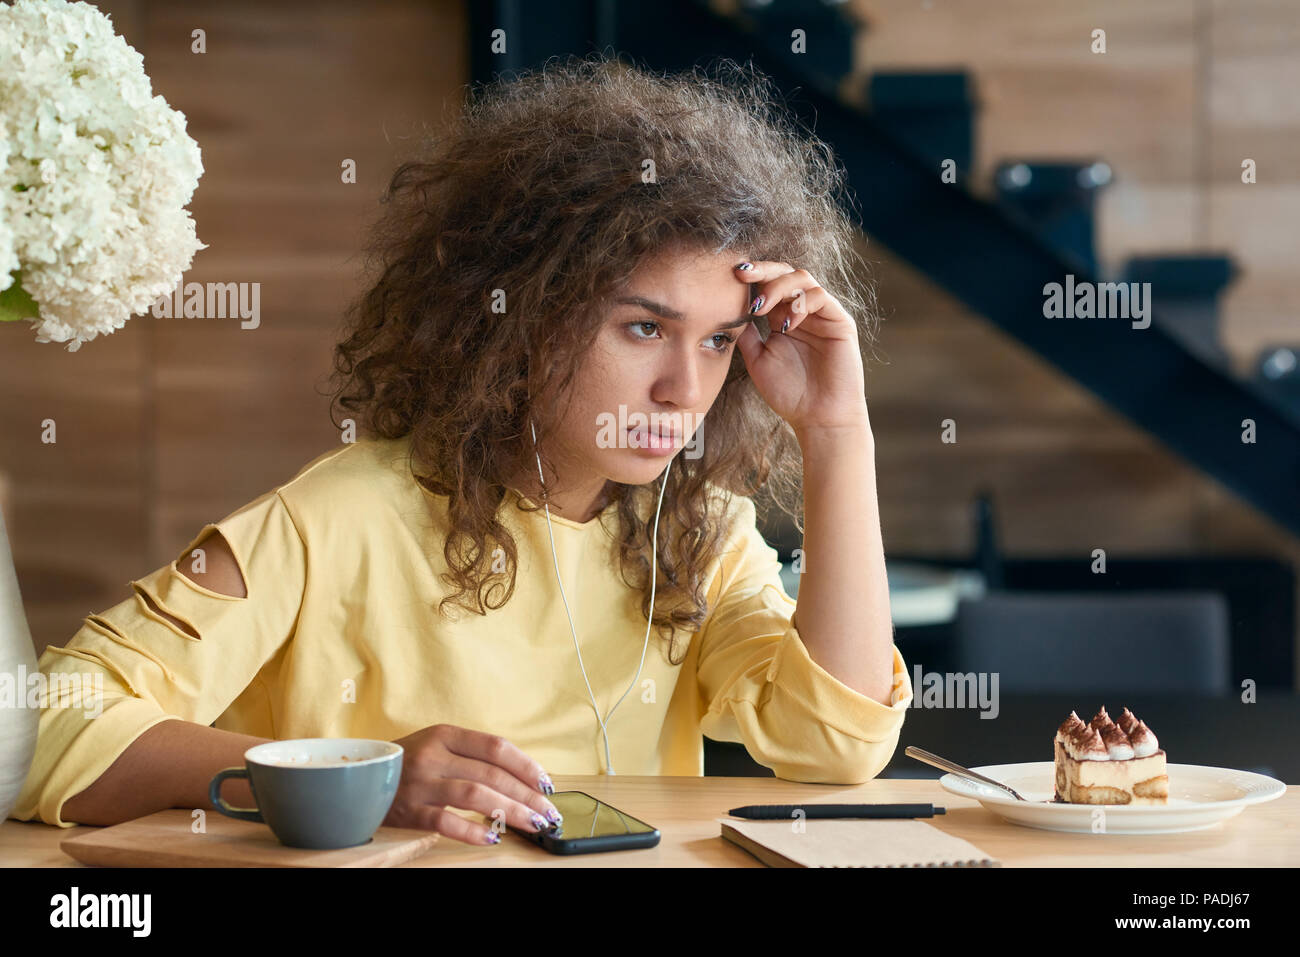
M 121 601 L 148 562 L 148 332 L 127 322 L 68 352 L 0 326 L 5 524 L 38 650 Z M 53 420 L 53 443 L 42 441 Z

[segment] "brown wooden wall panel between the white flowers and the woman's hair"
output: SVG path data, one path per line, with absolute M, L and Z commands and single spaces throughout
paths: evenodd
M 195 216 L 224 242 L 195 257 L 192 278 L 261 283 L 256 329 L 159 322 L 159 562 L 338 443 L 317 389 L 361 289 L 363 230 L 420 122 L 460 101 L 462 16 L 459 3 L 410 0 L 212 4 L 205 16 L 159 5 L 151 17 L 159 69 L 204 70 L 177 105 L 212 130 Z M 209 18 L 203 59 L 168 39 Z

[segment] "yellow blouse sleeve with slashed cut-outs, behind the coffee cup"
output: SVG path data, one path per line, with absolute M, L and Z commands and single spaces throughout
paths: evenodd
M 179 571 L 211 529 L 229 544 L 247 596 L 213 592 Z M 39 661 L 47 684 L 52 672 L 98 684 L 101 711 L 87 718 L 42 697 L 35 758 L 10 817 L 72 827 L 60 817 L 64 802 L 140 733 L 172 718 L 212 724 L 292 640 L 306 581 L 307 544 L 280 493 L 269 492 L 204 525 L 176 560 L 131 581 L 130 598 L 88 615 L 66 646 L 47 648 Z

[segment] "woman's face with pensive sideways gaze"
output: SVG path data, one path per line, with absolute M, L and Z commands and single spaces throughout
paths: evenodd
M 563 489 L 552 503 L 581 511 L 597 505 L 606 481 L 645 485 L 673 455 L 701 454 L 703 416 L 722 391 L 734 339 L 753 321 L 749 286 L 733 272 L 741 260 L 734 252 L 668 254 L 632 277 L 560 408 L 550 452 Z M 667 447 L 647 447 L 660 445 Z

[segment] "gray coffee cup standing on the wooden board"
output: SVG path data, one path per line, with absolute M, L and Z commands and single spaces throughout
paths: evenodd
M 244 767 L 217 771 L 208 798 L 222 814 L 270 827 L 290 848 L 351 848 L 384 823 L 402 779 L 402 745 L 365 737 L 268 741 L 244 752 Z M 256 807 L 221 797 L 228 778 L 247 778 Z

